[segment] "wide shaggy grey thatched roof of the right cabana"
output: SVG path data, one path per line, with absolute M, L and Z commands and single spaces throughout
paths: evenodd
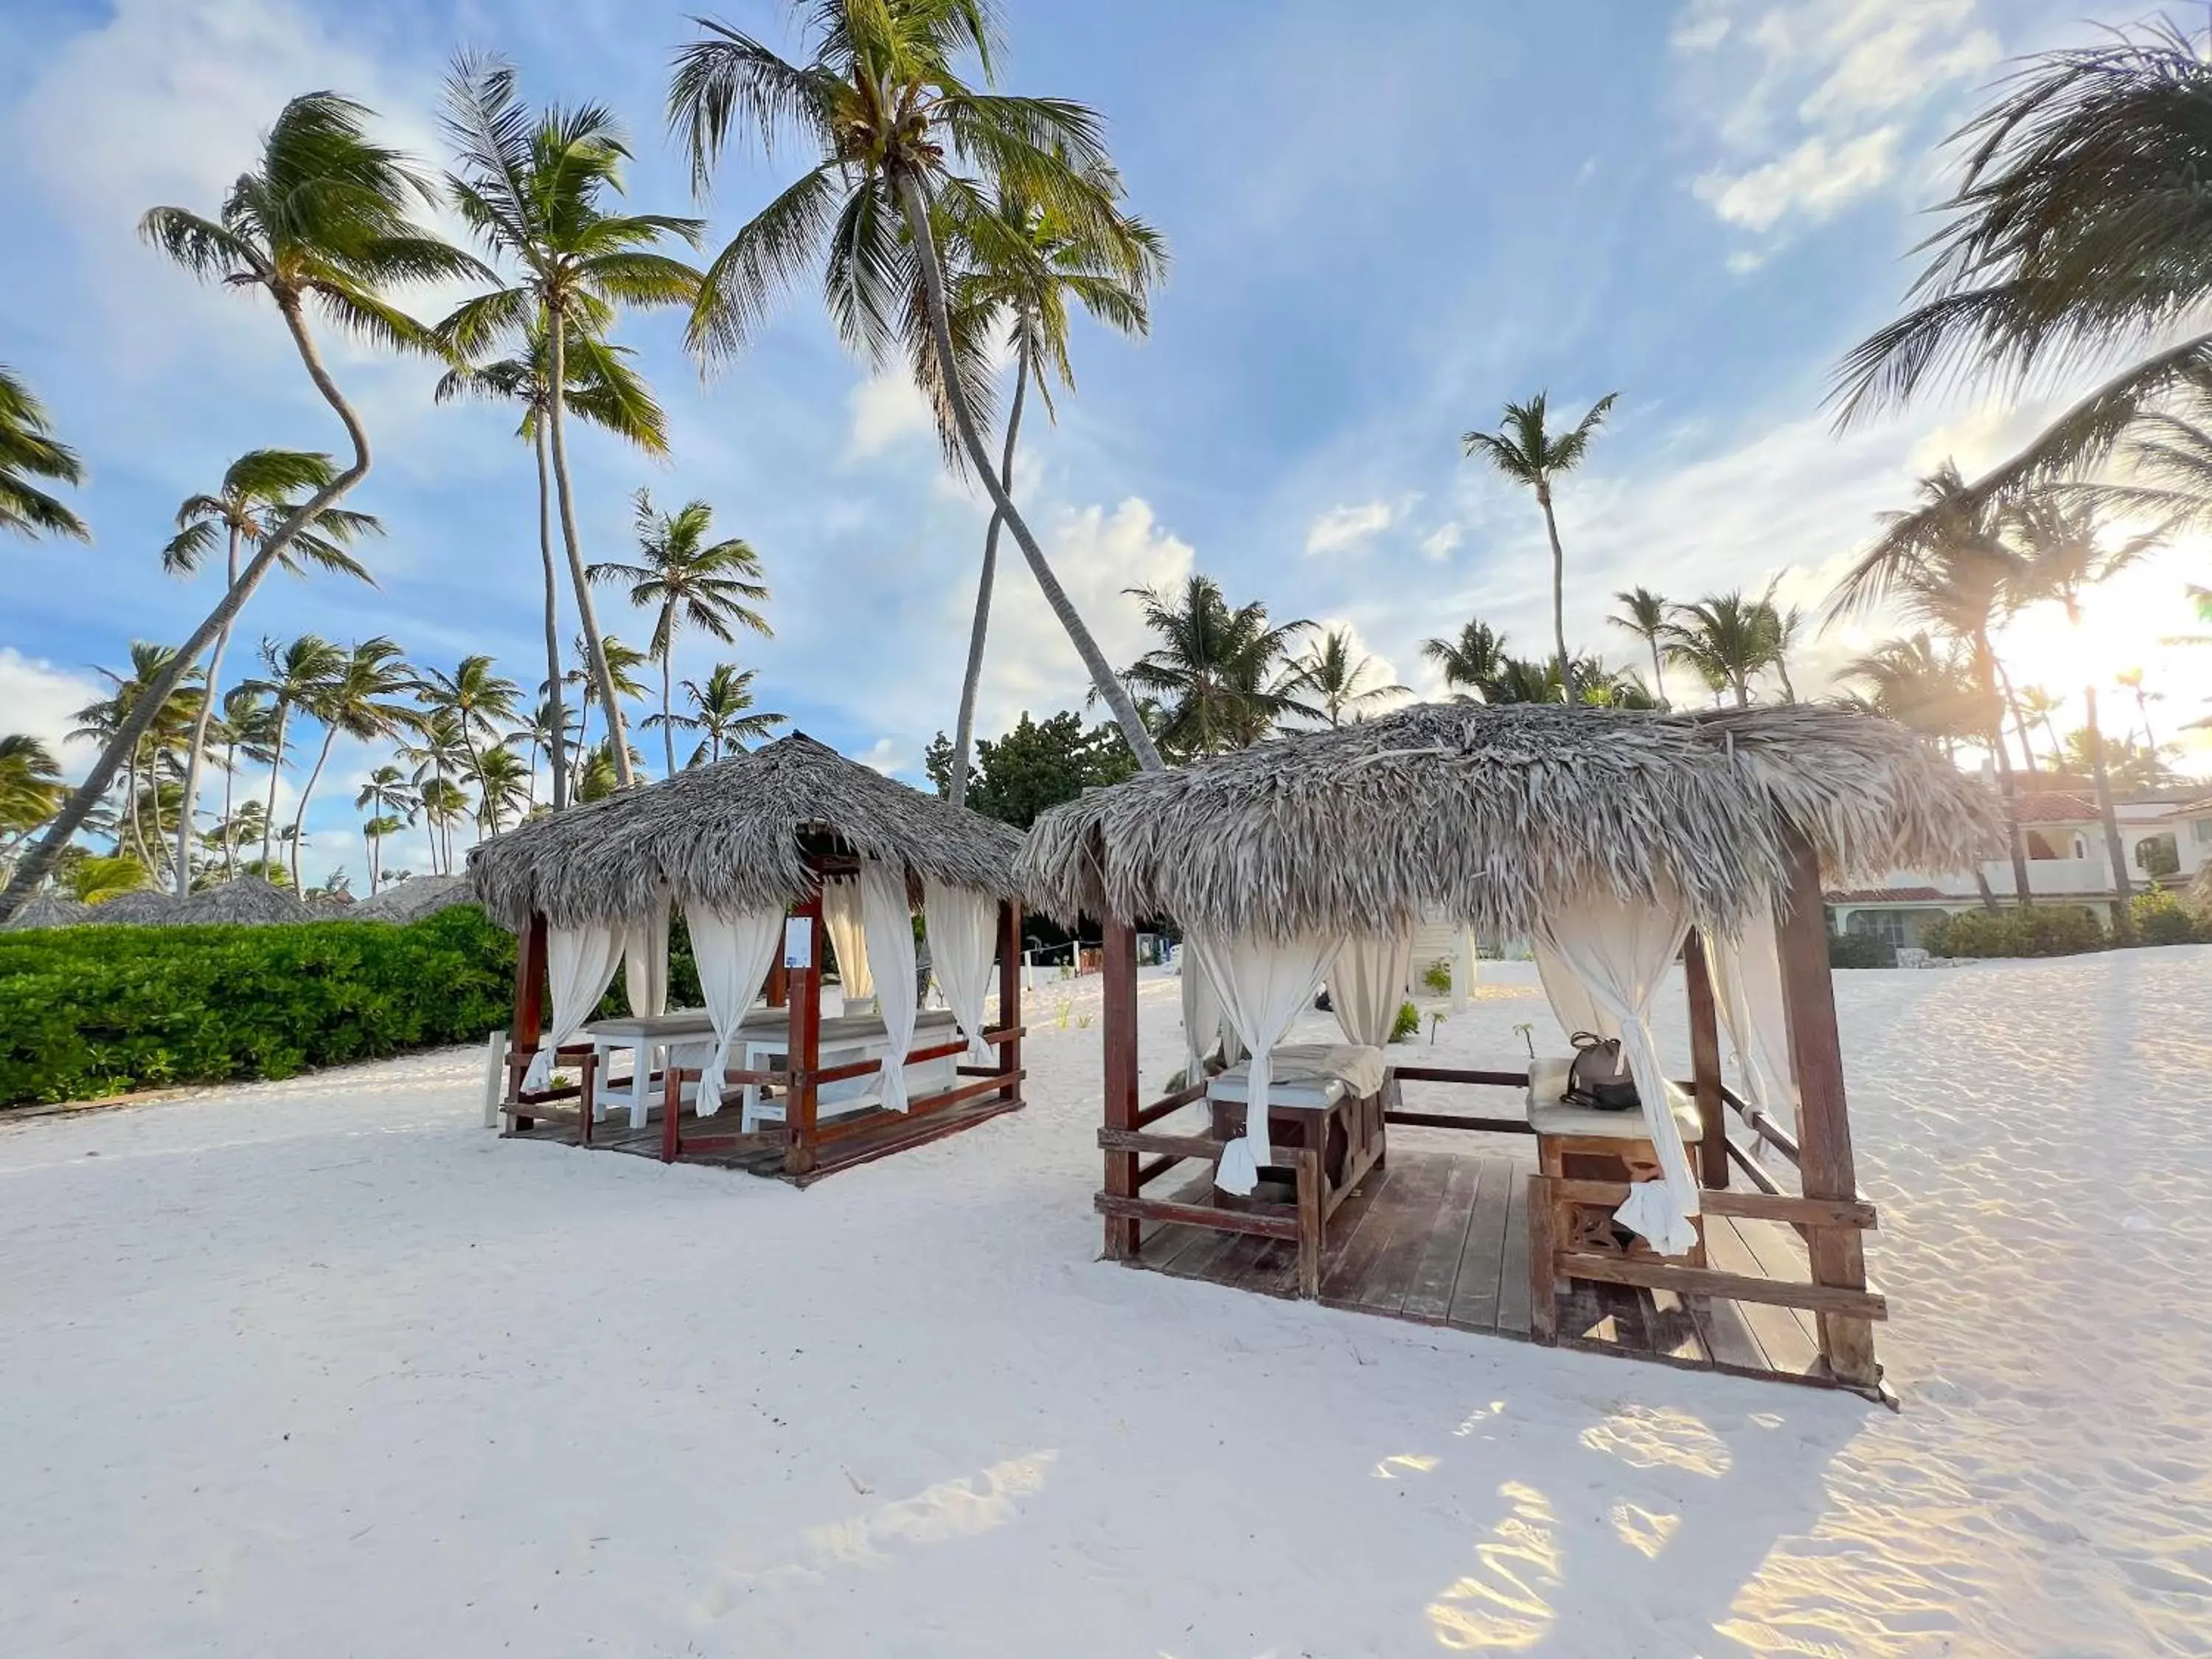
M 1924 739 L 1823 703 L 1710 714 L 1422 703 L 1259 743 L 1046 812 L 1031 902 L 1228 933 L 1405 925 L 1442 905 L 1520 938 L 1590 883 L 1670 883 L 1736 925 L 1785 827 L 1829 872 L 1960 869 L 2002 847 L 1995 794 Z

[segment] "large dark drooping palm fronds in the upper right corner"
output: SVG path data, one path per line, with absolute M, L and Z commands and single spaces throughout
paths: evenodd
M 2212 60 L 2159 18 L 2031 58 L 2002 84 L 1955 135 L 1966 168 L 1938 208 L 1949 223 L 1922 243 L 1911 310 L 1836 372 L 1838 420 L 1929 385 L 2020 389 L 2077 361 L 2157 349 L 1975 480 L 1984 504 L 2097 465 L 2161 396 L 2212 369 L 2212 219 L 2188 210 L 2212 175 Z

